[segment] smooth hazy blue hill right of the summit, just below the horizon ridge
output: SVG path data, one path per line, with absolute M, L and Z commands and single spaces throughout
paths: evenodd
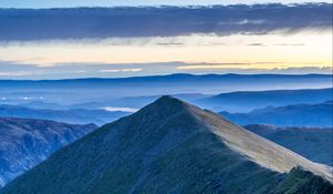
M 333 89 L 270 90 L 222 93 L 201 99 L 195 104 L 214 111 L 249 112 L 266 106 L 320 103 L 333 100 Z

